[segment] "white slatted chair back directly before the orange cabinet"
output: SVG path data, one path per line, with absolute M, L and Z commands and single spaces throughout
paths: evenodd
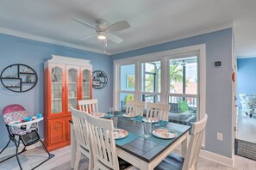
M 92 113 L 98 112 L 97 99 L 92 100 L 78 100 L 78 106 L 80 111 Z

